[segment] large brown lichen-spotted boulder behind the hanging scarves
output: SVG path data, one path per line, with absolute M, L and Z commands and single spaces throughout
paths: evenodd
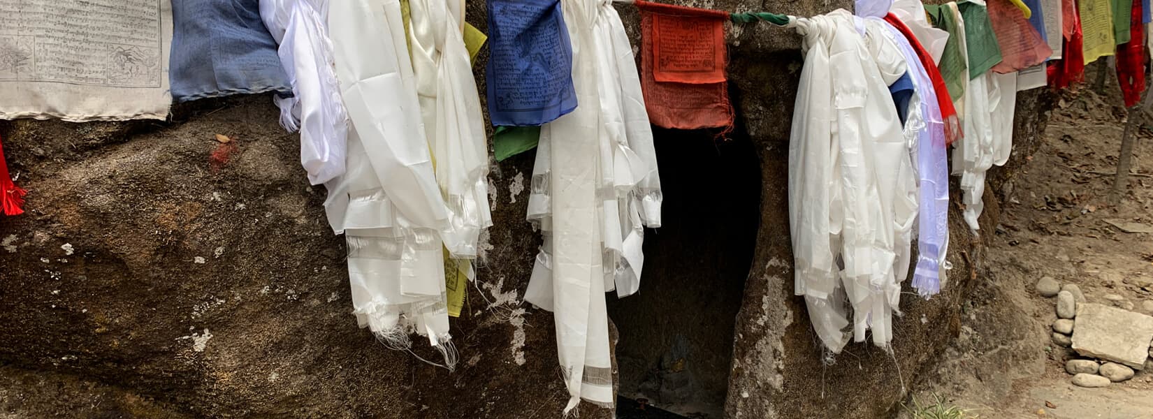
M 850 7 L 807 0 L 679 3 L 797 15 Z M 635 10 L 619 9 L 636 44 Z M 482 30 L 483 10 L 483 2 L 468 5 L 469 22 Z M 666 226 L 668 237 L 660 237 L 665 229 L 649 233 L 649 247 L 660 242 L 662 252 L 713 257 L 678 264 L 648 249 L 642 284 L 649 285 L 633 307 L 633 297 L 610 303 L 613 333 L 620 326 L 623 338 L 645 343 L 618 348 L 650 352 L 639 356 L 635 370 L 643 373 L 645 363 L 672 351 L 670 333 L 688 334 L 686 352 L 704 353 L 698 363 L 691 355 L 687 364 L 698 368 L 695 382 L 713 389 L 714 399 L 704 403 L 723 406 L 729 418 L 883 417 L 957 333 L 958 310 L 980 277 L 985 246 L 954 208 L 954 269 L 945 292 L 902 302 L 905 315 L 896 320 L 892 357 L 851 345 L 828 365 L 801 299 L 792 295 L 785 178 L 802 64 L 799 38 L 763 23 L 728 33 L 738 119 L 733 143 L 716 150 L 726 158 L 755 157 L 751 172 L 725 173 L 759 174 L 760 198 L 726 204 L 733 214 L 747 214 L 725 224 L 726 233 L 673 226 Z M 1031 144 L 1040 138 L 1049 100 L 1040 91 L 1018 99 L 1015 161 L 990 176 L 987 189 L 981 221 L 988 234 L 998 213 L 995 192 L 1011 180 L 1022 155 L 1035 150 Z M 13 417 L 559 416 L 567 396 L 556 366 L 552 317 L 521 302 L 540 244 L 523 221 L 533 153 L 491 166 L 495 227 L 467 313 L 452 321 L 461 364 L 449 373 L 389 351 L 356 328 L 344 241 L 331 234 L 321 208 L 325 192 L 308 185 L 299 138 L 277 120 L 270 98 L 236 97 L 179 106 L 167 122 L 0 122 L 9 167 L 29 190 L 27 214 L 0 218 L 0 411 Z M 221 146 L 216 134 L 234 138 L 235 147 Z M 707 134 L 658 131 L 662 165 L 683 153 L 679 147 L 709 142 Z M 708 169 L 691 159 L 671 165 L 662 167 L 670 181 L 688 182 L 695 170 Z M 717 214 L 692 207 L 710 204 L 694 204 L 693 188 L 666 188 L 683 195 L 666 199 L 688 207 L 666 211 L 684 214 L 684 222 Z M 707 244 L 688 242 L 693 234 Z M 714 272 L 722 272 L 718 282 L 701 282 L 713 281 L 702 274 Z M 654 284 L 661 289 L 648 288 Z M 642 327 L 689 315 L 711 320 L 660 333 Z M 435 356 L 415 346 L 419 356 Z M 728 370 L 716 371 L 718 363 Z M 581 413 L 611 417 L 588 405 Z

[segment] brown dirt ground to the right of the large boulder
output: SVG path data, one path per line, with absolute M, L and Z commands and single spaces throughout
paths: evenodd
M 997 191 L 1001 222 L 981 233 L 995 235 L 988 272 L 962 307 L 958 338 L 914 386 L 917 399 L 940 396 L 980 418 L 1153 418 L 1148 368 L 1106 388 L 1070 383 L 1063 365 L 1076 355 L 1050 340 L 1055 298 L 1035 290 L 1052 276 L 1078 284 L 1090 303 L 1153 308 L 1153 292 L 1137 285 L 1153 280 L 1151 235 L 1106 222 L 1153 228 L 1153 117 L 1144 119 L 1125 199 L 1110 206 L 1125 111 L 1115 83 L 1105 92 L 1063 92 L 1041 148 Z

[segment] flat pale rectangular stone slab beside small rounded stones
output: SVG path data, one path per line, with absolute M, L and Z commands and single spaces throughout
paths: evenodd
M 1140 370 L 1153 340 L 1153 317 L 1101 304 L 1077 305 L 1072 348 L 1086 357 L 1100 358 Z

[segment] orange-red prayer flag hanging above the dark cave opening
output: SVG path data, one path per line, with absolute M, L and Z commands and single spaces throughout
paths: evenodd
M 639 0 L 641 89 L 658 127 L 732 127 L 724 75 L 728 13 Z

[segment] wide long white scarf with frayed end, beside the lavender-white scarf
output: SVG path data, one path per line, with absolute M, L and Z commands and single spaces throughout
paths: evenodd
M 357 320 L 398 350 L 410 351 L 410 333 L 428 336 L 451 370 L 457 353 L 439 237 L 449 213 L 421 124 L 400 3 L 333 2 L 329 28 L 352 129 L 348 170 L 330 188 L 337 203 L 326 209 L 342 218 L 334 228 L 347 236 Z

